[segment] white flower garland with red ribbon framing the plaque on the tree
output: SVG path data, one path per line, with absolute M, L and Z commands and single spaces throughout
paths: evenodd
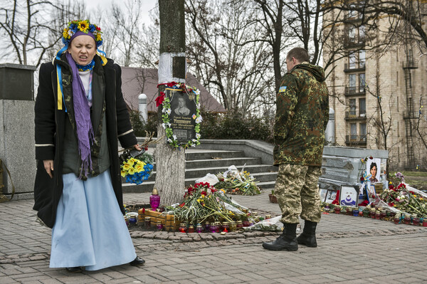
M 199 145 L 200 142 L 200 123 L 202 122 L 202 117 L 200 115 L 200 104 L 199 104 L 199 95 L 200 90 L 194 87 L 189 87 L 185 85 L 184 83 L 164 83 L 159 85 L 166 85 L 168 88 L 172 88 L 174 90 L 181 90 L 182 92 L 186 93 L 187 95 L 194 95 L 194 101 L 196 102 L 196 114 L 192 116 L 192 118 L 196 122 L 196 126 L 194 127 L 194 131 L 196 132 L 196 139 L 189 140 L 186 143 L 178 142 L 176 139 L 176 135 L 174 135 L 174 132 L 172 131 L 172 124 L 170 122 L 170 115 L 172 113 L 171 110 L 171 100 L 166 97 L 166 94 L 164 92 L 160 92 L 160 95 L 156 98 L 156 106 L 159 107 L 159 105 L 162 105 L 162 127 L 164 128 L 166 132 L 167 142 L 173 147 L 184 147 L 184 149 L 188 147 L 196 147 L 196 145 Z M 157 88 L 159 88 L 159 85 L 157 85 Z

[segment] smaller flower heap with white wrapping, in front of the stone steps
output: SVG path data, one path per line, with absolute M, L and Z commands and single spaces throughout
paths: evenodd
M 255 195 L 260 194 L 260 189 L 256 185 L 255 178 L 249 172 L 240 172 L 236 170 L 228 170 L 225 173 L 217 174 L 218 184 L 215 184 L 217 189 L 224 189 L 228 194 Z

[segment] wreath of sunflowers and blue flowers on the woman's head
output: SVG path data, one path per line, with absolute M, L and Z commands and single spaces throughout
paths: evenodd
M 70 45 L 70 42 L 73 41 L 75 36 L 81 36 L 84 33 L 93 37 L 97 47 L 102 45 L 101 28 L 97 25 L 94 25 L 93 23 L 90 23 L 89 20 L 68 22 L 68 25 L 64 28 L 63 31 L 63 43 L 65 46 L 68 46 Z

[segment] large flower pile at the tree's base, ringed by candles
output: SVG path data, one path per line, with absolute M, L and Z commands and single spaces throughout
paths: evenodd
M 198 223 L 203 221 L 247 220 L 248 216 L 241 206 L 233 203 L 223 189 L 215 189 L 207 182 L 189 186 L 181 204 L 167 206 L 167 211 L 181 221 Z

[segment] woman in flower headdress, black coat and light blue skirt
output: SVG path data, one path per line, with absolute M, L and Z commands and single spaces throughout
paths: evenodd
M 50 267 L 69 272 L 144 263 L 123 218 L 117 138 L 140 148 L 120 67 L 97 50 L 101 35 L 88 20 L 71 21 L 64 48 L 40 68 L 33 209 L 53 228 Z

